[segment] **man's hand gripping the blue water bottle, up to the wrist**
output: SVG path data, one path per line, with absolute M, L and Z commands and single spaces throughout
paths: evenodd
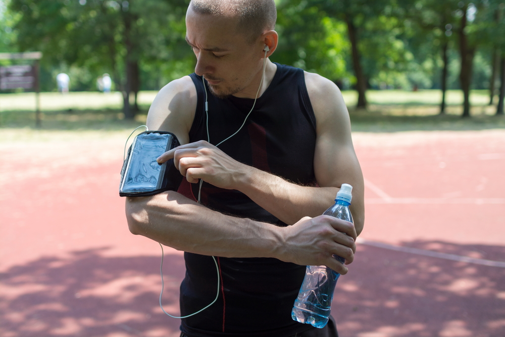
M 332 255 L 345 259 L 345 264 L 354 260 L 356 252 L 356 229 L 348 221 L 327 215 L 305 217 L 291 226 L 280 228 L 283 248 L 279 259 L 299 265 L 325 265 L 337 273 L 346 274 L 348 269 Z

